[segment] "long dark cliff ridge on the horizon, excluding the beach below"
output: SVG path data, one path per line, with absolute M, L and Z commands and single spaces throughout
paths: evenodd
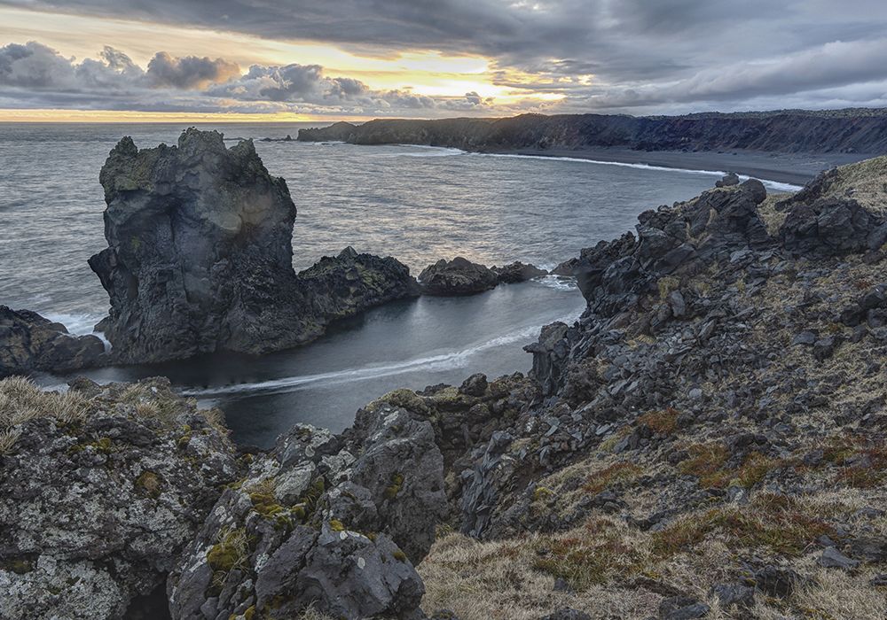
M 887 152 L 887 109 L 703 112 L 684 116 L 522 114 L 501 119 L 376 119 L 299 130 L 303 142 L 428 144 L 466 151 L 750 150 L 779 153 Z

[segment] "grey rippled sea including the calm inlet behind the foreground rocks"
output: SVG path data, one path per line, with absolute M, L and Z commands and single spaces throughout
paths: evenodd
M 98 171 L 122 136 L 149 147 L 175 143 L 185 127 L 0 125 L 0 304 L 90 333 L 107 310 L 86 263 L 106 246 Z M 553 267 L 632 229 L 641 211 L 691 198 L 718 178 L 717 171 L 417 146 L 259 141 L 295 137 L 299 127 L 200 126 L 223 131 L 232 143 L 254 138 L 271 174 L 287 180 L 299 211 L 296 269 L 347 245 L 394 256 L 416 274 L 457 255 L 487 265 L 523 260 Z M 290 352 L 83 374 L 99 381 L 169 376 L 201 403 L 223 407 L 235 439 L 268 446 L 294 422 L 341 430 L 357 407 L 396 387 L 526 371 L 530 355 L 522 345 L 548 322 L 572 321 L 583 306 L 575 286 L 546 278 L 470 298 L 376 308 Z M 36 378 L 56 385 L 69 377 Z

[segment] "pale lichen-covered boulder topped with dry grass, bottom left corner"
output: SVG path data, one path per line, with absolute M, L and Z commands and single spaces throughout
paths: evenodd
M 0 382 L 0 417 L 27 420 L 0 454 L 0 617 L 131 617 L 238 477 L 227 432 L 168 381 L 79 386 Z

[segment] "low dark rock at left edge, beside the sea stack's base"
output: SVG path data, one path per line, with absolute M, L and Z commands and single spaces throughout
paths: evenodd
M 40 314 L 0 306 L 0 377 L 35 370 L 66 372 L 105 362 L 105 345 L 98 337 L 74 336 Z

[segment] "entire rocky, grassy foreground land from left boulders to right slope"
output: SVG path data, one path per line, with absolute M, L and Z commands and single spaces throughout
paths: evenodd
M 0 617 L 887 617 L 887 158 L 722 185 L 563 267 L 530 376 L 339 436 L 0 382 Z

